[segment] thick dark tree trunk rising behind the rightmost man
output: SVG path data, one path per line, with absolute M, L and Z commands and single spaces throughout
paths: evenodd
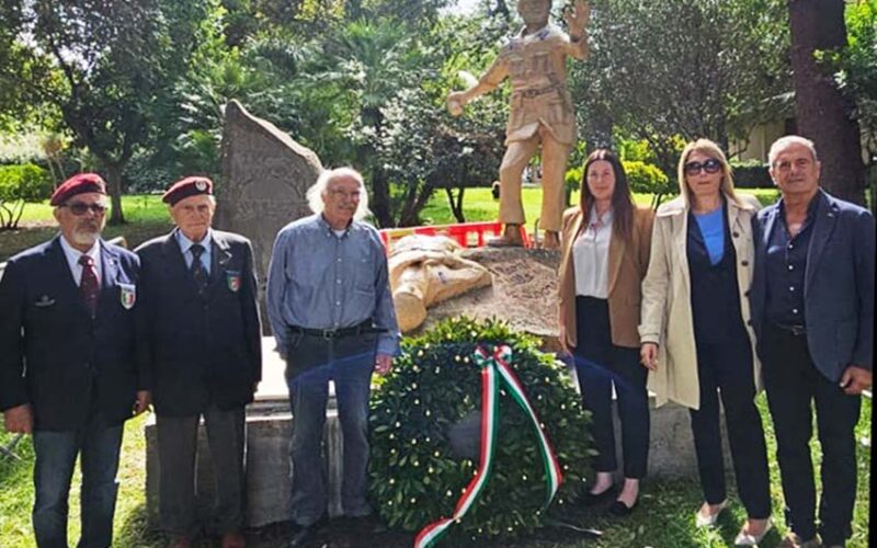
M 854 104 L 844 98 L 817 49 L 846 45 L 843 0 L 788 0 L 791 68 L 798 132 L 816 144 L 822 186 L 838 197 L 865 203 L 865 165 Z

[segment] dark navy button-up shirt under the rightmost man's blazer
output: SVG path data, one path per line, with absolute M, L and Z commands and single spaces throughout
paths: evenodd
M 815 196 L 807 208 L 807 219 L 795 237 L 786 227 L 786 208 L 779 201 L 777 220 L 767 244 L 767 321 L 778 326 L 804 326 L 804 274 L 807 271 L 807 250 L 813 232 L 813 220 L 819 208 L 819 196 Z

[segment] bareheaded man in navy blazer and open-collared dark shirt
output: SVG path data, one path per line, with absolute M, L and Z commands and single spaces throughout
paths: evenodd
M 874 217 L 819 187 L 813 144 L 771 147 L 782 199 L 754 218 L 750 298 L 791 534 L 821 546 L 810 459 L 812 404 L 822 448 L 819 534 L 844 546 L 856 499 L 855 425 L 874 365 Z

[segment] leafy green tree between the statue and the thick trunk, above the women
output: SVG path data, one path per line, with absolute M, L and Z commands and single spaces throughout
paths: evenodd
M 785 0 L 592 5 L 591 54 L 571 77 L 589 142 L 646 140 L 654 157 L 641 159 L 670 174 L 677 139 L 727 146 L 787 107 L 776 101 L 790 88 Z

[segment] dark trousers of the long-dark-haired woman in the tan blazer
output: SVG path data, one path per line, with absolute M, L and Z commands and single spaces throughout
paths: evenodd
M 612 421 L 612 388 L 618 400 L 625 478 L 646 477 L 649 455 L 648 372 L 639 363 L 639 349 L 612 344 L 606 299 L 576 297 L 576 375 L 582 403 L 591 411 L 591 429 L 597 456 L 594 468 L 618 468 Z

